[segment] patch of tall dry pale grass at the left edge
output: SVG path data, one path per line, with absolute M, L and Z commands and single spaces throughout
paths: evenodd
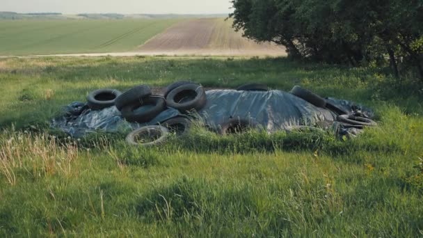
M 58 173 L 72 175 L 71 164 L 79 157 L 77 144 L 59 143 L 50 134 L 32 134 L 4 130 L 0 134 L 0 172 L 11 185 L 17 181 L 16 173 L 37 180 Z

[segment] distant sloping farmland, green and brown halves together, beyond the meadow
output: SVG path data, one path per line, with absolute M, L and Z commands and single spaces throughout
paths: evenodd
M 285 47 L 242 38 L 232 29 L 232 22 L 223 18 L 0 20 L 0 32 L 0 56 L 125 52 L 159 56 L 286 55 Z

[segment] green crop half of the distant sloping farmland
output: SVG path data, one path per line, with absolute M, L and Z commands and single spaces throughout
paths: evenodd
M 130 51 L 180 19 L 0 21 L 0 55 Z

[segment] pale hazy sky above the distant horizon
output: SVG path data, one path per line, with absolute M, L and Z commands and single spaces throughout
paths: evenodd
M 17 13 L 230 13 L 230 0 L 0 0 L 0 11 Z

